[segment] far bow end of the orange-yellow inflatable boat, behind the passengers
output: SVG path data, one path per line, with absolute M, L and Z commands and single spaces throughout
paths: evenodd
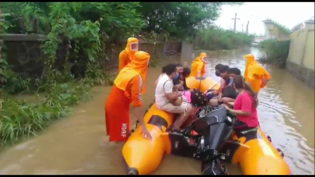
M 218 90 L 220 88 L 220 81 L 215 82 L 211 77 L 187 77 L 186 85 L 188 88 L 199 89 L 202 92 L 208 89 Z

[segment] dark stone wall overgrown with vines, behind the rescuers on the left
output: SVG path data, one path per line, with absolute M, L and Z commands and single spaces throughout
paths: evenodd
M 23 77 L 40 76 L 43 72 L 45 56 L 41 45 L 41 40 L 47 39 L 47 36 L 38 34 L 0 34 L 0 54 L 1 52 L 6 53 L 6 60 L 9 65 L 13 66 L 13 70 Z M 63 39 L 60 37 L 60 39 Z M 2 49 L 4 43 L 5 48 Z M 178 54 L 181 51 L 180 42 L 146 42 L 140 40 L 140 50 L 148 52 L 152 58 L 154 56 L 169 56 Z M 125 41 L 119 41 L 116 43 L 106 43 L 102 46 L 103 51 L 99 53 L 104 70 L 117 68 L 118 67 L 118 55 L 126 47 Z M 66 53 L 70 52 L 68 60 L 84 61 L 87 56 L 84 55 L 82 50 L 79 51 L 80 55 L 72 53 L 73 49 L 69 49 L 67 40 L 64 43 L 60 43 L 59 49 L 56 54 L 55 65 L 59 70 L 63 69 L 66 62 Z M 77 62 L 77 63 L 80 63 Z M 79 65 L 79 64 L 78 64 Z M 82 68 L 82 67 L 81 67 Z M 79 69 L 73 69 L 74 71 L 81 71 Z

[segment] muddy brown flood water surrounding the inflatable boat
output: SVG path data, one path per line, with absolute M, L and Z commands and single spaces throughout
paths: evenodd
M 201 51 L 195 51 L 196 56 Z M 207 74 L 215 81 L 218 63 L 244 71 L 243 55 L 260 55 L 258 49 L 207 52 Z M 172 61 L 180 60 L 174 56 Z M 182 61 L 191 62 L 189 59 Z M 284 70 L 265 66 L 272 75 L 259 93 L 262 129 L 282 149 L 292 174 L 314 174 L 314 90 Z M 143 111 L 154 99 L 154 82 L 160 68 L 150 68 Z M 152 87 L 150 87 L 152 86 Z M 71 117 L 60 120 L 37 137 L 8 148 L 0 154 L 0 174 L 126 174 L 122 163 L 123 143 L 109 143 L 105 136 L 104 103 L 111 87 L 93 88 L 94 97 L 73 108 Z M 135 119 L 133 119 L 135 120 Z M 230 174 L 240 174 L 228 165 Z M 165 156 L 153 174 L 200 174 L 201 163 L 194 159 Z

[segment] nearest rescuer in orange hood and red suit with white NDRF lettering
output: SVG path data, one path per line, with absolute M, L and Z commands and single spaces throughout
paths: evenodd
M 151 139 L 141 113 L 141 92 L 146 81 L 150 55 L 137 51 L 133 60 L 118 73 L 105 104 L 106 133 L 109 141 L 125 141 L 129 136 L 130 103 L 145 138 Z

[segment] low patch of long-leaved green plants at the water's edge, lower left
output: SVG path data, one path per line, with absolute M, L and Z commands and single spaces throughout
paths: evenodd
M 11 144 L 22 136 L 35 135 L 51 121 L 66 116 L 69 106 L 92 96 L 91 83 L 93 82 L 51 83 L 42 102 L 20 101 L 10 95 L 2 95 L 4 102 L 0 115 L 1 144 Z

